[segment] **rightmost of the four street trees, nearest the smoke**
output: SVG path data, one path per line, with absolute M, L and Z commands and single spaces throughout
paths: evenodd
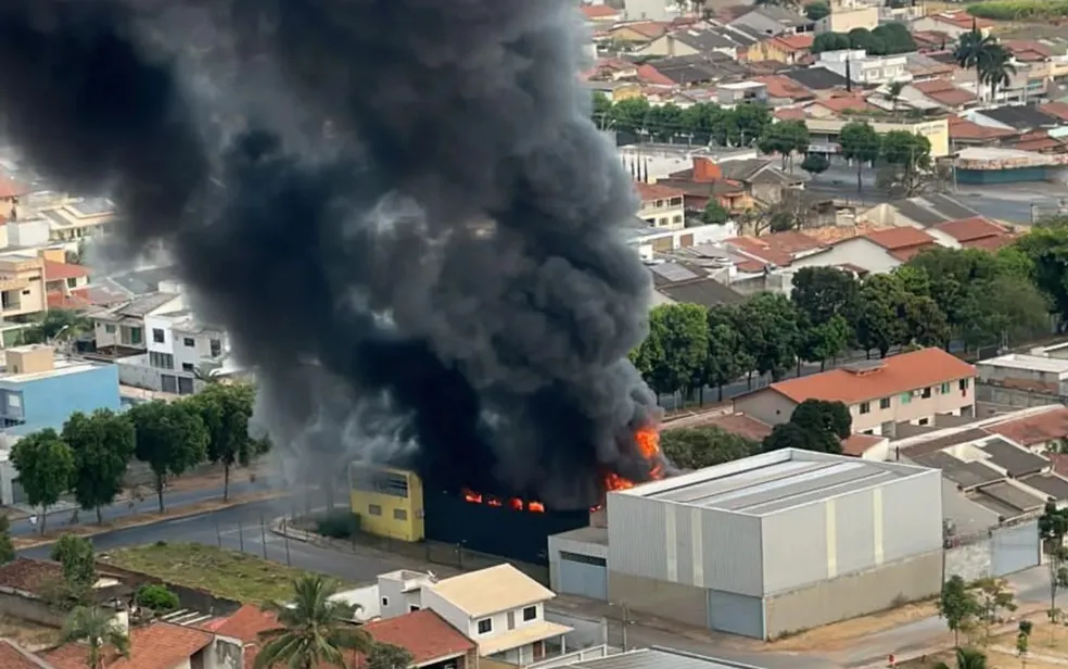
M 229 498 L 230 470 L 247 467 L 259 455 L 259 444 L 249 436 L 249 419 L 256 400 L 247 383 L 216 383 L 188 400 L 207 428 L 207 459 L 223 465 L 223 498 Z

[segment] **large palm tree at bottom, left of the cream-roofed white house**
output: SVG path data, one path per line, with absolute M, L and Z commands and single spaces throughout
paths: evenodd
M 260 634 L 265 643 L 254 669 L 313 669 L 323 662 L 347 668 L 345 651 L 367 653 L 371 638 L 347 622 L 356 607 L 330 601 L 336 592 L 335 583 L 308 575 L 293 581 L 292 604 L 266 604 L 280 627 Z

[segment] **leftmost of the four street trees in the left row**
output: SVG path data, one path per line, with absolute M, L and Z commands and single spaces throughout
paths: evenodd
M 48 523 L 48 509 L 71 489 L 74 455 L 55 430 L 48 428 L 20 439 L 11 450 L 11 463 L 30 506 L 41 507 L 41 534 Z

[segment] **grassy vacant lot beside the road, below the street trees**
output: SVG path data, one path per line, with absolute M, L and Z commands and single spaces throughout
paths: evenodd
M 307 573 L 247 553 L 196 543 L 156 542 L 109 551 L 100 558 L 116 567 L 249 604 L 288 601 L 293 596 L 293 579 Z

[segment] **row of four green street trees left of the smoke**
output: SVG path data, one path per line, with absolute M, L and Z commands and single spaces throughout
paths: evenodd
M 67 493 L 103 522 L 103 507 L 123 491 L 134 460 L 151 469 L 161 513 L 168 477 L 205 462 L 223 466 L 226 498 L 231 469 L 247 466 L 270 449 L 266 438 L 249 436 L 254 399 L 252 386 L 217 383 L 187 399 L 147 402 L 123 413 L 78 412 L 62 430 L 48 428 L 23 437 L 11 450 L 11 462 L 26 501 L 42 509 L 41 533 L 48 509 Z

